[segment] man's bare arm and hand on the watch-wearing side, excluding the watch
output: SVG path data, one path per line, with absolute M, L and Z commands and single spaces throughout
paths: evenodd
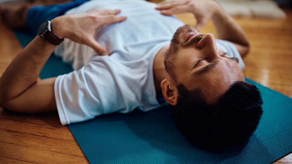
M 53 19 L 52 31 L 59 38 L 69 38 L 86 44 L 99 54 L 108 54 L 93 38 L 95 30 L 105 24 L 121 22 L 126 17 L 115 16 L 120 10 L 96 10 Z M 70 27 L 68 27 L 70 24 Z M 44 64 L 55 49 L 36 36 L 11 62 L 0 78 L 0 106 L 17 112 L 56 110 L 54 78 L 37 81 Z

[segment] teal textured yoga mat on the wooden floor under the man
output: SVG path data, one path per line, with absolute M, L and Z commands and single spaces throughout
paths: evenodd
M 32 37 L 15 31 L 22 46 Z M 71 69 L 51 57 L 41 78 Z M 176 129 L 168 106 L 108 114 L 69 125 L 90 163 L 271 163 L 292 151 L 292 99 L 252 80 L 263 94 L 264 114 L 249 142 L 221 152 L 193 147 Z

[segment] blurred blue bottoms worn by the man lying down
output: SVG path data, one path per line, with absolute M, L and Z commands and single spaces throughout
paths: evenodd
M 31 34 L 36 35 L 36 30 L 41 22 L 64 15 L 68 10 L 78 7 L 87 1 L 89 0 L 76 0 L 49 6 L 34 6 L 27 12 L 25 25 Z

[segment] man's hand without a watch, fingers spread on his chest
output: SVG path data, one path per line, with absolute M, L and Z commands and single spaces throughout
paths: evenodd
M 173 0 L 158 3 L 157 10 L 163 15 L 193 13 L 197 19 L 196 29 L 200 31 L 220 8 L 219 4 L 210 0 Z

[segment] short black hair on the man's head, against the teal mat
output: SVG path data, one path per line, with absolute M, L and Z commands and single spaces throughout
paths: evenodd
M 178 84 L 178 104 L 172 106 L 178 129 L 203 149 L 221 149 L 247 141 L 262 117 L 259 89 L 247 82 L 235 82 L 215 105 L 209 105 L 199 89 Z

